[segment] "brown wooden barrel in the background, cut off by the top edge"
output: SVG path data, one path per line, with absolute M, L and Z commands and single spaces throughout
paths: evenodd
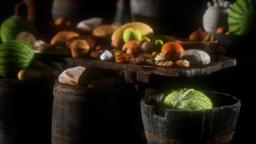
M 78 17 L 78 3 L 76 0 L 54 0 L 51 14 L 55 21 L 59 17 L 75 19 Z

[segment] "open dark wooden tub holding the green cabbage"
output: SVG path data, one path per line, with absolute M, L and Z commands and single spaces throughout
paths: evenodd
M 156 115 L 155 106 L 147 105 L 142 100 L 147 143 L 231 143 L 241 101 L 223 93 L 205 94 L 212 100 L 213 109 L 169 109 L 165 111 L 165 117 Z

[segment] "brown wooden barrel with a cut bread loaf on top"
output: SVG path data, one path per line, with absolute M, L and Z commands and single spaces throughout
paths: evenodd
M 53 144 L 136 141 L 138 97 L 131 85 L 89 88 L 56 81 L 53 93 Z

